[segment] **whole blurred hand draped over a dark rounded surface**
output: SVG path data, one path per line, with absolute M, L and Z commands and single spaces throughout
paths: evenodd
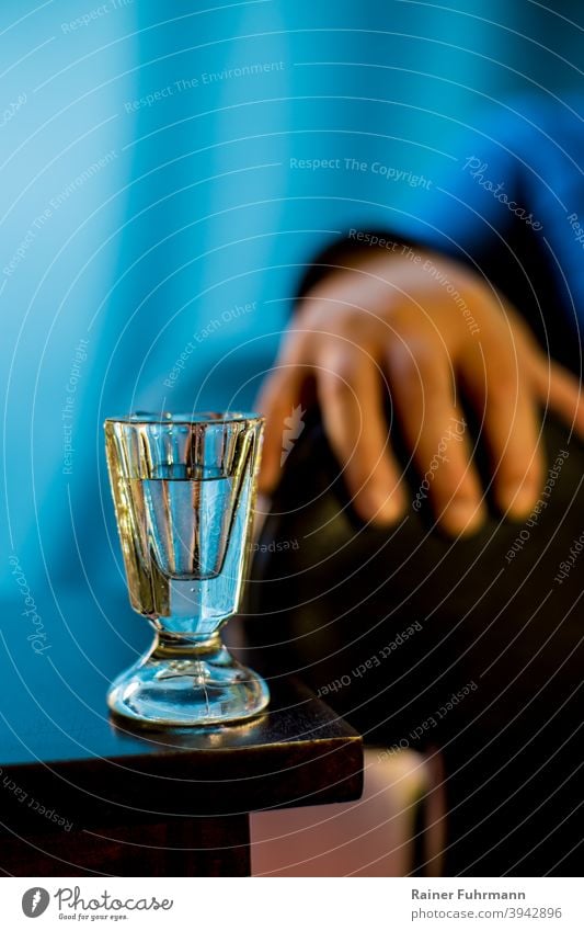
M 485 282 L 437 254 L 417 256 L 359 254 L 304 297 L 257 401 L 266 415 L 260 488 L 270 493 L 278 481 L 285 421 L 310 381 L 356 511 L 397 521 L 408 502 L 385 411 L 389 389 L 421 475 L 417 500 L 427 495 L 447 532 L 471 532 L 484 502 L 462 393 L 481 422 L 496 502 L 525 518 L 545 470 L 538 407 L 584 434 L 580 383 Z

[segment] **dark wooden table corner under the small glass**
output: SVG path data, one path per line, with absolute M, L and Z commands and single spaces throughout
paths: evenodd
M 360 795 L 360 738 L 296 681 L 271 682 L 270 712 L 240 726 L 114 723 L 105 690 L 148 626 L 119 591 L 99 604 L 88 592 L 35 599 L 39 654 L 23 603 L 2 605 L 4 874 L 249 875 L 250 811 Z

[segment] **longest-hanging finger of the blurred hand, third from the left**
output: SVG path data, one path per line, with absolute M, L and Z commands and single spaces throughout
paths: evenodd
M 428 498 L 448 533 L 471 533 L 484 519 L 484 506 L 444 349 L 414 339 L 396 341 L 388 372 L 400 425 L 422 477 L 414 510 Z

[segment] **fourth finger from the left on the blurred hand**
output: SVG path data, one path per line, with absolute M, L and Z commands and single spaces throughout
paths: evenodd
M 513 345 L 505 347 L 503 340 L 483 345 L 482 364 L 469 354 L 460 367 L 469 396 L 483 418 L 496 502 L 502 511 L 520 520 L 537 501 L 543 472 L 529 379 L 517 365 Z

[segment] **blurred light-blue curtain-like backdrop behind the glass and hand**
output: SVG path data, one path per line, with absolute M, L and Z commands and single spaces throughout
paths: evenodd
M 105 416 L 252 405 L 310 258 L 350 227 L 408 231 L 431 213 L 424 186 L 373 162 L 436 184 L 485 107 L 504 121 L 508 95 L 534 91 L 563 105 L 582 78 L 569 2 L 209 5 L 0 8 L 2 570 L 13 595 L 14 554 L 39 611 L 79 582 L 123 590 Z

